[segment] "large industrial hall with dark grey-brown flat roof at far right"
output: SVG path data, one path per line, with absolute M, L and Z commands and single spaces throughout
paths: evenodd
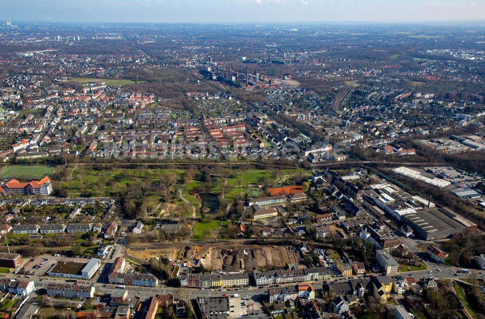
M 415 235 L 425 240 L 477 230 L 477 224 L 445 207 L 422 209 L 402 216 L 402 220 L 413 229 Z

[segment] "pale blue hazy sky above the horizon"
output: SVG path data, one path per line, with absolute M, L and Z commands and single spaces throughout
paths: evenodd
M 485 0 L 1 0 L 0 16 L 39 22 L 485 21 Z

